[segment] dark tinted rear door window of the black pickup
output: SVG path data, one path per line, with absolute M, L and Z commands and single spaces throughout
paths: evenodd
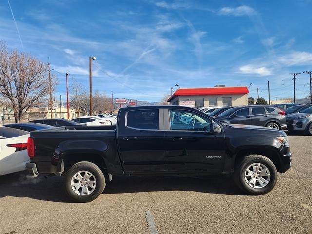
M 158 110 L 128 111 L 127 126 L 138 129 L 159 129 L 159 111 Z

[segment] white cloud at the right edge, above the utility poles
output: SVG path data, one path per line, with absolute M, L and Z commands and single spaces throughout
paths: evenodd
M 290 54 L 280 56 L 278 61 L 288 65 L 310 65 L 312 63 L 312 53 L 305 51 L 295 51 Z

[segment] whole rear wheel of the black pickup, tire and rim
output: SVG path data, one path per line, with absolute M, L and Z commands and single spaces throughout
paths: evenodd
M 103 192 L 105 186 L 103 172 L 91 162 L 74 164 L 67 171 L 64 181 L 66 195 L 75 202 L 93 201 Z

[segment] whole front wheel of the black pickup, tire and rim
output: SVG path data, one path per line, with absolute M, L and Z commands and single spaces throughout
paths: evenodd
M 258 171 L 255 172 L 255 174 L 253 174 L 254 167 L 252 165 L 254 165 L 255 168 L 257 165 L 260 165 L 260 168 L 255 170 Z M 252 172 L 248 172 L 247 169 L 252 169 L 250 170 Z M 267 174 L 269 174 L 269 176 Z M 262 155 L 249 155 L 243 157 L 236 163 L 234 178 L 238 187 L 245 193 L 250 195 L 263 195 L 274 188 L 277 181 L 277 170 L 274 163 L 269 158 Z

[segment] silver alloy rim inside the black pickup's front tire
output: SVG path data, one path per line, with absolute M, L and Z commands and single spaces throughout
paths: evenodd
M 269 169 L 262 163 L 253 163 L 245 171 L 245 181 L 254 189 L 261 189 L 267 186 L 270 182 L 270 177 Z

